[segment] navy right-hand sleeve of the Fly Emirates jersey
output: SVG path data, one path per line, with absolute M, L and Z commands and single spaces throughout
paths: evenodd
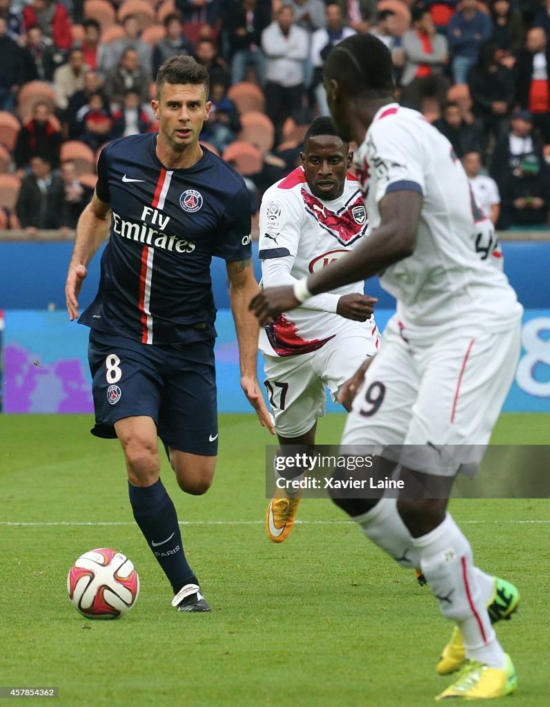
M 247 260 L 252 257 L 250 238 L 250 197 L 245 183 L 233 194 L 220 223 L 219 237 L 212 255 L 229 262 Z

